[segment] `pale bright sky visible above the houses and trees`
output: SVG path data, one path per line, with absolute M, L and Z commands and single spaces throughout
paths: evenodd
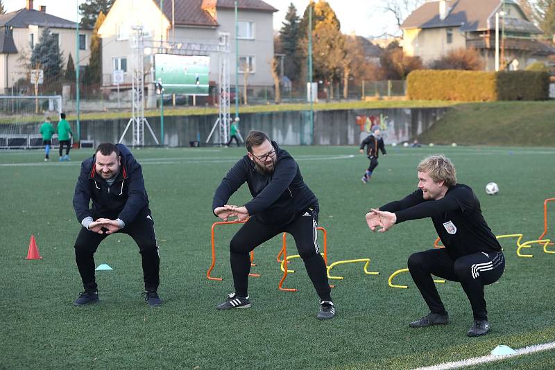
M 170 0 L 166 0 L 170 1 Z M 295 4 L 297 14 L 302 17 L 309 0 L 264 0 L 278 9 L 273 15 L 273 28 L 282 27 L 289 4 Z M 34 0 L 34 8 L 46 6 L 51 15 L 74 21 L 77 17 L 77 3 L 84 0 Z M 327 0 L 341 22 L 341 31 L 350 34 L 353 31 L 359 36 L 380 36 L 384 33 L 395 33 L 397 25 L 395 17 L 380 9 L 382 0 Z M 7 12 L 25 7 L 26 0 L 3 0 Z

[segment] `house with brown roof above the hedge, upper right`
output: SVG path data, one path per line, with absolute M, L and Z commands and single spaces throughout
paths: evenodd
M 424 64 L 450 51 L 475 48 L 486 71 L 495 71 L 495 19 L 499 15 L 501 68 L 524 69 L 547 62 L 555 49 L 537 38 L 542 33 L 514 0 L 429 1 L 405 19 L 402 47 Z

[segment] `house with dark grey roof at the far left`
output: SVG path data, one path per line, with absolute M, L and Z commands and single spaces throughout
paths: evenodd
M 79 43 L 81 68 L 89 64 L 90 38 L 92 30 L 79 30 L 76 24 L 46 12 L 46 6 L 33 8 L 33 0 L 21 1 L 24 8 L 0 15 L 0 94 L 12 94 L 12 87 L 20 78 L 28 78 L 28 64 L 35 45 L 40 40 L 44 27 L 49 27 L 58 38 L 60 51 L 67 63 L 69 53 L 76 58 L 76 44 Z M 67 66 L 63 65 L 62 69 Z

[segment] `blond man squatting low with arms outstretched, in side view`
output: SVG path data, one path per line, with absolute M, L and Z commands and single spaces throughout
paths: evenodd
M 409 272 L 429 314 L 409 324 L 411 328 L 447 324 L 449 316 L 439 297 L 432 274 L 461 283 L 474 322 L 466 335 L 477 337 L 490 331 L 484 285 L 499 280 L 505 258 L 495 235 L 481 214 L 472 188 L 456 183 L 450 159 L 432 155 L 418 164 L 418 190 L 402 200 L 372 209 L 366 214 L 370 230 L 387 231 L 394 224 L 432 218 L 445 248 L 429 249 L 409 257 Z

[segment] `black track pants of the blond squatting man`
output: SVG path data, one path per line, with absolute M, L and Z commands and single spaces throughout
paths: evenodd
M 478 252 L 453 260 L 447 251 L 441 248 L 418 252 L 409 257 L 412 279 L 431 312 L 443 315 L 446 313 L 434 285 L 433 274 L 461 283 L 472 306 L 474 318 L 477 320 L 488 319 L 484 285 L 495 283 L 504 270 L 505 258 L 502 252 Z

